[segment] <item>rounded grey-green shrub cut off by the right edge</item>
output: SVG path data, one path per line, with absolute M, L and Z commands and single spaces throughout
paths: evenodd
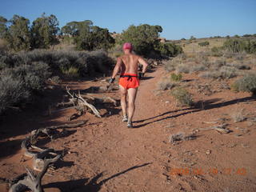
M 232 86 L 234 91 L 251 92 L 256 94 L 256 74 L 246 74 L 244 77 L 235 81 Z

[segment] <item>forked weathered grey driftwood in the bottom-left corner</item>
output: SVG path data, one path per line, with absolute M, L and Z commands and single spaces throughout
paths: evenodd
M 60 155 L 43 160 L 42 171 L 36 176 L 31 170 L 26 168 L 26 174 L 21 174 L 10 182 L 9 192 L 19 192 L 26 189 L 30 189 L 33 192 L 42 192 L 42 177 L 46 174 L 50 164 L 57 162 L 58 158 L 60 158 Z

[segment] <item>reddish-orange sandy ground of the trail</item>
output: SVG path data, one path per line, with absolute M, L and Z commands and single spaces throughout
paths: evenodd
M 71 122 L 86 125 L 70 129 L 64 138 L 44 141 L 41 146 L 64 153 L 56 170 L 42 180 L 46 191 L 256 191 L 256 98 L 246 93 L 221 89 L 198 91 L 204 82 L 192 74 L 183 85 L 193 94 L 198 107 L 180 107 L 170 90 L 156 91 L 166 75 L 162 67 L 146 74 L 136 100 L 134 128 L 121 122 L 121 107 L 101 107 L 103 118 L 84 114 Z M 73 90 L 100 86 L 98 82 L 72 82 Z M 102 94 L 99 94 L 102 95 Z M 108 94 L 118 99 L 118 91 Z M 49 100 L 49 99 L 48 99 Z M 48 101 L 47 100 L 47 101 Z M 48 101 L 49 102 L 49 101 Z M 247 119 L 234 122 L 231 114 L 244 109 Z M 20 144 L 30 130 L 67 122 L 74 110 L 43 116 L 42 110 L 9 115 L 2 119 L 0 177 L 24 173 L 31 160 L 22 160 Z M 202 130 L 226 123 L 229 134 Z M 194 140 L 170 143 L 170 135 L 195 133 Z M 1 191 L 6 185 L 1 184 Z

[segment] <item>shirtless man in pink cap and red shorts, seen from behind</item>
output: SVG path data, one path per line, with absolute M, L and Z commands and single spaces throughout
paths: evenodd
M 122 106 L 122 122 L 127 122 L 127 127 L 132 128 L 132 119 L 135 110 L 135 98 L 139 86 L 139 79 L 141 79 L 145 72 L 148 64 L 146 61 L 136 54 L 132 54 L 133 46 L 130 42 L 126 42 L 122 46 L 124 54 L 120 56 L 114 66 L 110 83 L 114 82 L 115 76 L 121 71 L 119 79 L 119 89 L 121 93 L 121 106 Z M 138 63 L 142 64 L 142 73 L 138 74 Z M 126 102 L 126 96 L 128 94 L 128 107 Z M 128 108 L 128 109 L 127 109 Z M 128 111 L 128 117 L 127 117 Z

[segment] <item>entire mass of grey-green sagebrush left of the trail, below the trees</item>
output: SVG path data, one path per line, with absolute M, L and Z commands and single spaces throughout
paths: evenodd
M 106 73 L 113 61 L 105 51 L 33 50 L 8 54 L 0 52 L 0 113 L 18 103 L 30 102 L 44 90 L 51 74 L 85 77 Z M 58 78 L 51 78 L 58 81 Z M 57 82 L 57 83 L 58 83 Z

